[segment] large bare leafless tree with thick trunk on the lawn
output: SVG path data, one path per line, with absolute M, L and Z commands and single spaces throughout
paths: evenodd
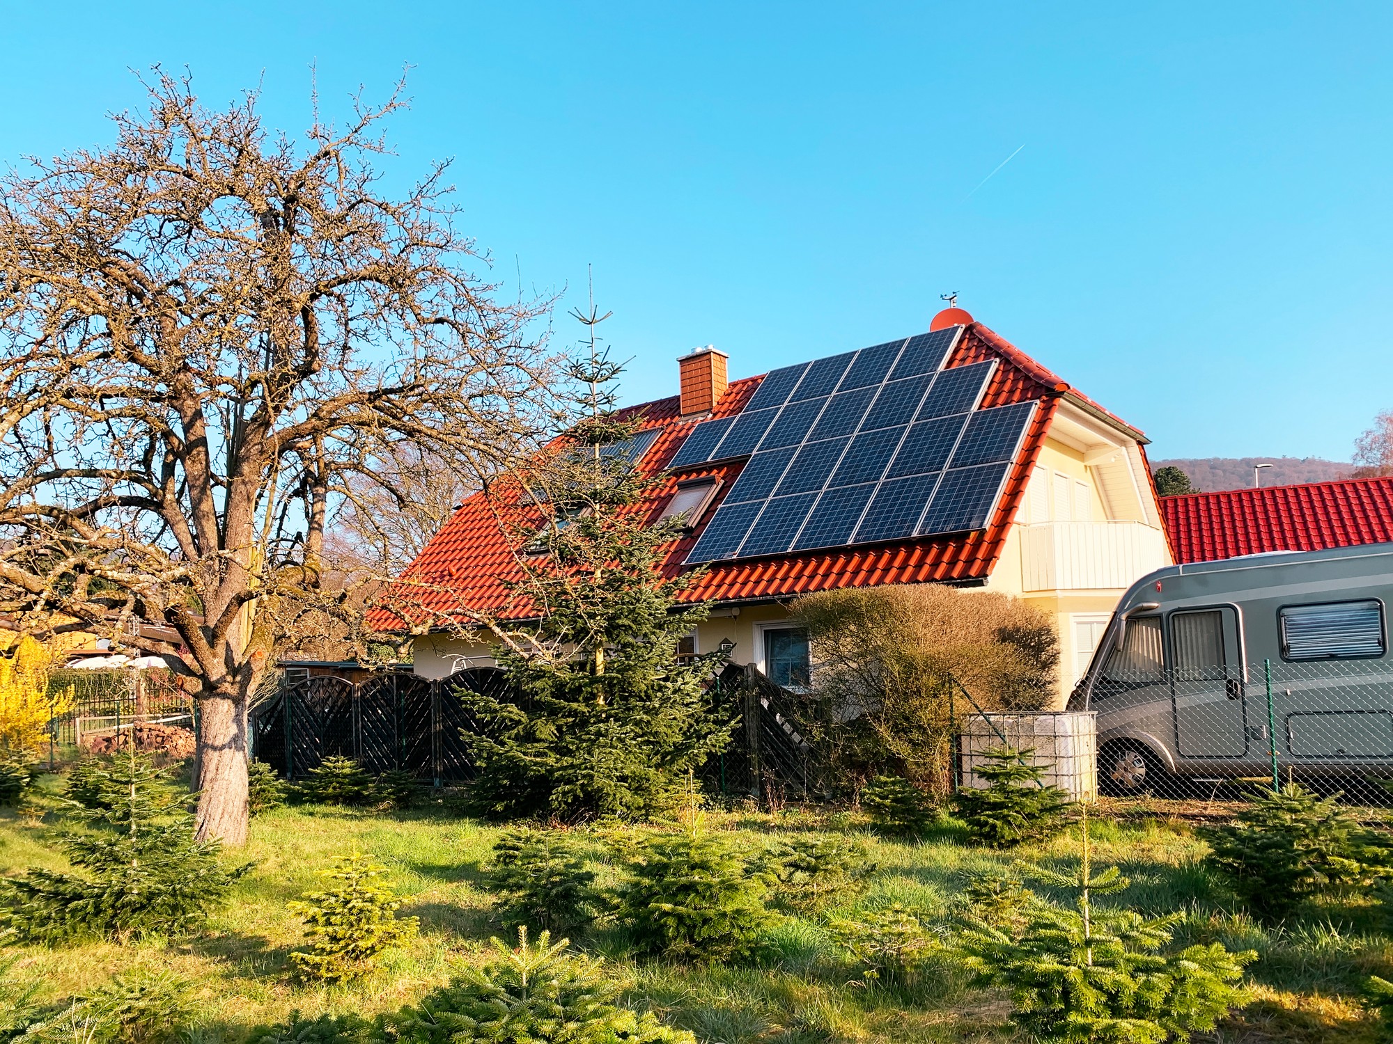
M 198 835 L 235 845 L 248 697 L 290 617 L 347 600 L 336 491 L 403 454 L 482 483 L 532 452 L 546 302 L 471 274 L 443 164 L 382 191 L 400 85 L 298 143 L 255 93 L 146 86 L 110 148 L 0 178 L 0 611 L 163 654 L 201 707 Z

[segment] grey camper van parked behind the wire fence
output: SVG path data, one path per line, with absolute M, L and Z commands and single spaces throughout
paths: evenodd
M 1070 696 L 1105 792 L 1393 777 L 1393 544 L 1172 565 L 1134 583 Z

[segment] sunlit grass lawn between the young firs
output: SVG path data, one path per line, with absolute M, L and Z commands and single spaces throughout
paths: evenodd
M 56 791 L 53 777 L 43 786 Z M 1173 812 L 1173 810 L 1170 810 Z M 0 812 L 0 873 L 29 866 L 64 866 L 49 845 L 47 823 L 26 823 Z M 765 838 L 798 831 L 864 831 L 850 813 L 791 809 L 780 814 L 713 813 L 712 830 L 738 831 L 754 848 Z M 1131 878 L 1112 899 L 1146 913 L 1187 912 L 1185 941 L 1219 940 L 1256 949 L 1250 966 L 1254 1001 L 1209 1040 L 1375 1041 L 1376 1023 L 1358 1004 L 1362 979 L 1393 970 L 1393 937 L 1379 908 L 1362 898 L 1315 906 L 1277 928 L 1262 930 L 1230 912 L 1229 901 L 1198 867 L 1202 845 L 1183 818 L 1162 803 L 1109 806 L 1092 835 L 1098 864 L 1117 863 Z M 414 999 L 479 963 L 488 938 L 503 934 L 479 867 L 497 837 L 492 827 L 442 810 L 359 813 L 309 806 L 281 809 L 252 821 L 252 841 L 230 859 L 255 860 L 231 902 L 192 938 L 139 945 L 86 944 L 65 949 L 14 948 L 20 974 L 43 979 L 46 995 L 81 994 L 135 967 L 169 969 L 191 980 L 198 997 L 199 1041 L 238 1041 L 256 1023 L 293 1009 L 371 1015 Z M 612 880 L 605 841 L 582 832 L 600 881 Z M 598 931 L 588 947 L 606 956 L 630 983 L 630 1001 L 696 1037 L 723 1044 L 747 1041 L 866 1040 L 1006 1041 L 1003 998 L 970 991 L 951 974 L 926 977 L 900 990 L 857 984 L 855 969 L 839 956 L 826 923 L 855 909 L 903 903 L 928 922 L 944 919 L 965 874 L 1027 857 L 1059 867 L 1077 859 L 1077 831 L 1046 846 L 1013 853 L 968 848 L 950 825 L 918 844 L 897 844 L 862 832 L 879 871 L 868 891 L 815 917 L 791 917 L 768 935 L 766 955 L 742 967 L 684 967 L 634 963 L 617 931 Z M 287 955 L 302 942 L 286 903 L 316 889 L 315 871 L 333 856 L 371 853 L 390 870 L 386 881 L 407 896 L 404 913 L 421 919 L 421 934 L 383 962 L 380 974 L 352 987 L 315 988 L 290 977 Z M 13 969 L 11 974 L 17 970 Z

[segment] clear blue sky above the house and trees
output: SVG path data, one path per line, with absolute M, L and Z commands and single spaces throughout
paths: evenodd
M 595 267 L 624 398 L 928 329 L 939 294 L 1153 457 L 1347 459 L 1393 406 L 1386 4 L 4 6 L 0 157 L 106 141 L 130 68 L 302 129 L 384 96 L 497 278 Z M 1014 159 L 983 178 L 1014 150 Z

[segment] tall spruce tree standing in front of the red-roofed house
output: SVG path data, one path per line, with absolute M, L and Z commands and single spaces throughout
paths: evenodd
M 599 349 L 593 309 L 577 317 L 591 329 L 570 374 L 578 419 L 564 447 L 522 476 L 546 521 L 517 535 L 514 596 L 538 619 L 499 628 L 508 697 L 460 692 L 481 725 L 464 732 L 478 773 L 471 800 L 490 818 L 652 818 L 729 742 L 706 693 L 713 657 L 677 663 L 678 640 L 705 611 L 681 603 L 696 574 L 663 572 L 680 528 L 649 523 L 662 477 L 623 451 L 642 418 L 616 412 L 623 367 Z

